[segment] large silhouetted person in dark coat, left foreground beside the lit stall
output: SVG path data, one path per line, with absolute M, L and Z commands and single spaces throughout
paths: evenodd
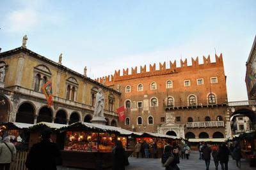
M 56 170 L 56 157 L 60 156 L 60 150 L 56 143 L 50 141 L 51 129 L 45 129 L 41 133 L 42 141 L 32 146 L 26 167 L 29 170 Z

